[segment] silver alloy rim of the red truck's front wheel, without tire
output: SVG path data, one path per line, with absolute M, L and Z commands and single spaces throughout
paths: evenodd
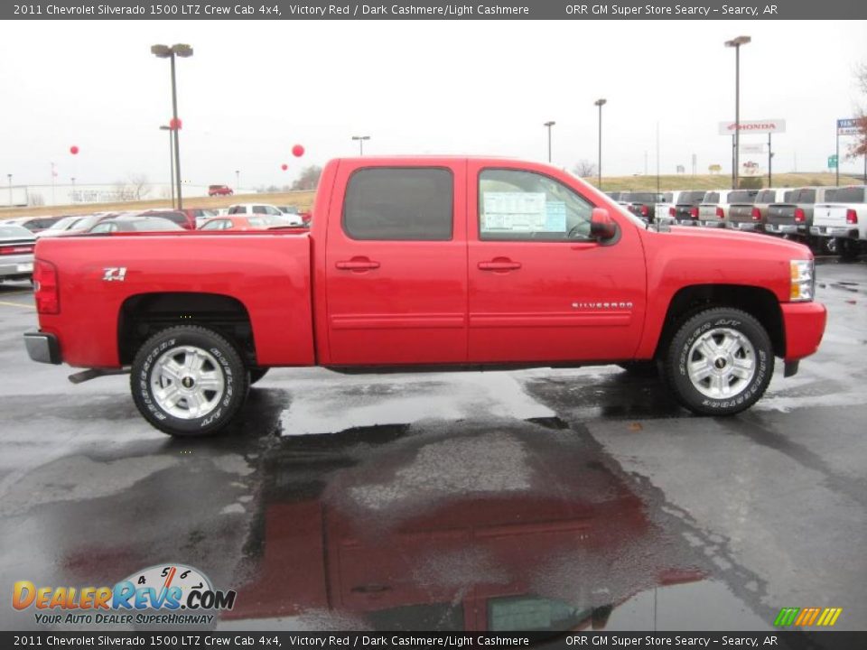
M 705 397 L 736 397 L 756 375 L 756 350 L 740 331 L 714 328 L 689 348 L 686 372 L 695 390 Z

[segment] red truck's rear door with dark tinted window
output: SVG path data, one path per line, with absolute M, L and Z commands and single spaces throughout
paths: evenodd
M 466 163 L 365 164 L 340 163 L 331 200 L 329 365 L 463 363 Z

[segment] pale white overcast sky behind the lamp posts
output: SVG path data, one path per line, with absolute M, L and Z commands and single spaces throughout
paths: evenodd
M 14 184 L 168 181 L 169 63 L 150 46 L 187 42 L 178 60 L 184 181 L 282 185 L 301 166 L 357 153 L 473 153 L 554 163 L 597 156 L 602 170 L 678 164 L 730 172 L 734 51 L 741 119 L 783 118 L 774 169 L 824 170 L 834 120 L 867 105 L 853 70 L 867 22 L 724 21 L 69 21 L 6 23 L 0 40 L 0 173 Z M 767 136 L 744 136 L 762 142 Z M 292 156 L 293 144 L 307 153 Z M 80 153 L 72 156 L 70 145 Z M 288 163 L 289 171 L 280 165 Z M 862 169 L 862 161 L 842 169 Z

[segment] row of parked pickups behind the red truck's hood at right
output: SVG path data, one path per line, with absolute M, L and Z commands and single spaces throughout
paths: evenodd
M 608 195 L 648 223 L 765 233 L 848 258 L 867 253 L 864 185 Z

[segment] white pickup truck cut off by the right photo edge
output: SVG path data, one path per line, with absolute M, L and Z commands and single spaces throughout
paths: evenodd
M 833 246 L 845 258 L 867 252 L 867 185 L 834 188 L 825 203 L 813 208 L 810 234 L 833 238 Z

